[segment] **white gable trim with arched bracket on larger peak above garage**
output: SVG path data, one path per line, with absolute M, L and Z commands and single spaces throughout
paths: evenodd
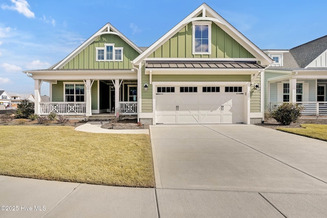
M 201 15 L 202 16 L 199 16 Z M 194 10 L 190 15 L 186 16 L 182 21 L 180 21 L 174 28 L 168 31 L 164 36 L 159 38 L 154 42 L 148 49 L 146 49 L 141 55 L 133 60 L 133 64 L 141 63 L 145 58 L 147 58 L 152 52 L 158 49 L 159 46 L 164 44 L 172 36 L 174 36 L 180 29 L 188 25 L 192 21 L 198 20 L 209 20 L 213 21 L 222 30 L 224 30 L 228 35 L 240 43 L 248 52 L 250 52 L 255 58 L 260 59 L 262 65 L 269 65 L 272 60 L 257 47 L 249 39 L 247 39 L 243 34 L 241 34 L 236 28 L 230 25 L 224 18 L 222 18 L 216 11 L 210 8 L 208 5 L 203 3 L 200 7 Z

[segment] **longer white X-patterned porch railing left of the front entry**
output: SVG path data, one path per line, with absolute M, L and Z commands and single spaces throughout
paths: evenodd
M 40 102 L 40 115 L 85 115 L 85 102 Z

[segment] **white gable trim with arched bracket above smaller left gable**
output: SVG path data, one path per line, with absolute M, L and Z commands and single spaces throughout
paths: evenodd
M 66 58 L 64 58 L 62 61 L 58 62 L 57 64 L 51 66 L 49 69 L 60 69 L 63 67 L 66 63 L 71 61 L 76 55 L 78 55 L 82 50 L 84 50 L 89 44 L 91 44 L 95 39 L 97 39 L 99 36 L 103 34 L 114 34 L 121 37 L 127 44 L 129 44 L 135 51 L 137 51 L 139 54 L 141 54 L 143 51 L 134 44 L 131 40 L 129 40 L 124 34 L 122 34 L 120 31 L 118 31 L 116 28 L 114 28 L 111 23 L 106 23 L 105 26 L 103 26 L 100 30 L 98 30 L 95 34 L 93 34 L 90 38 L 88 38 L 83 44 L 81 44 L 79 47 L 77 47 L 76 50 L 74 50 L 71 54 L 69 54 Z

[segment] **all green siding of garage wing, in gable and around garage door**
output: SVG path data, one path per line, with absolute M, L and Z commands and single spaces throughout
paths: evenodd
M 254 58 L 240 43 L 212 23 L 211 55 L 192 54 L 192 23 L 183 27 L 172 38 L 162 44 L 148 58 Z M 162 82 L 244 82 L 251 81 L 250 75 L 152 75 L 152 81 Z M 149 83 L 142 67 L 142 84 Z M 255 83 L 260 84 L 260 76 Z M 254 85 L 251 86 L 251 90 Z M 251 92 L 251 112 L 260 112 L 260 92 Z M 152 111 L 152 85 L 142 90 L 142 112 Z

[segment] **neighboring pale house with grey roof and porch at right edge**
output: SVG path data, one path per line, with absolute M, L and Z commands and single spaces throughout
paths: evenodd
M 327 36 L 290 50 L 263 50 L 274 60 L 265 70 L 265 110 L 283 102 L 305 107 L 302 114 L 327 114 Z

